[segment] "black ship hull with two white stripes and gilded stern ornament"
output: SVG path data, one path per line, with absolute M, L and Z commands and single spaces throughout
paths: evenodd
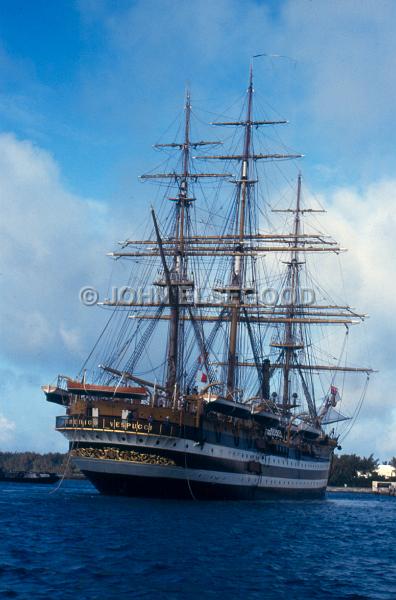
M 331 449 L 289 456 L 153 433 L 67 430 L 72 461 L 99 492 L 154 498 L 322 498 Z M 73 450 L 74 448 L 74 450 Z

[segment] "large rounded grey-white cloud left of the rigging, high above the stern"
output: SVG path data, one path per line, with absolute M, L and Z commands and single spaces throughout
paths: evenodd
M 0 195 L 3 351 L 27 365 L 76 367 L 104 317 L 78 292 L 91 282 L 105 289 L 114 222 L 106 205 L 67 191 L 47 152 L 13 135 L 0 136 Z

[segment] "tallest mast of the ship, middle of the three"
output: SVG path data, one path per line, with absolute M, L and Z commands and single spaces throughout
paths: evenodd
M 245 120 L 245 133 L 243 144 L 243 158 L 241 165 L 241 178 L 238 185 L 238 209 L 239 214 L 239 244 L 241 254 L 234 257 L 233 272 L 231 276 L 231 286 L 234 295 L 235 306 L 231 309 L 231 324 L 228 345 L 228 371 L 227 371 L 227 396 L 233 396 L 235 388 L 235 374 L 237 362 L 237 343 L 238 343 L 238 328 L 240 304 L 242 300 L 243 282 L 244 282 L 244 240 L 245 240 L 245 211 L 248 194 L 249 182 L 249 158 L 251 146 L 251 131 L 252 131 L 252 102 L 253 102 L 253 65 L 250 65 L 247 111 Z

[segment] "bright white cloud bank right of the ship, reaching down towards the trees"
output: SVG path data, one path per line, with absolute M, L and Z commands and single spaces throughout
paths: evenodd
M 369 313 L 363 325 L 350 328 L 351 364 L 378 370 L 371 376 L 360 415 L 343 444 L 344 450 L 373 452 L 382 460 L 396 455 L 396 411 L 393 382 L 396 323 L 396 180 L 372 183 L 364 191 L 342 188 L 323 194 L 328 214 L 321 220 L 348 252 L 341 255 L 341 285 L 334 257 L 327 259 L 320 277 L 325 287 L 358 312 Z M 308 200 L 309 202 L 309 200 Z M 315 259 L 316 262 L 319 259 Z M 332 265 L 332 266 L 331 266 Z M 339 288 L 337 289 L 337 286 Z M 345 389 L 349 407 L 357 404 L 360 389 Z M 349 398 L 348 398 L 349 396 Z

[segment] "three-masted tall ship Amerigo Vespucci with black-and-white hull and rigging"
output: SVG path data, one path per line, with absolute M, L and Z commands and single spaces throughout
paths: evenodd
M 167 168 L 141 176 L 161 201 L 142 239 L 111 253 L 131 261 L 129 280 L 103 301 L 110 317 L 79 375 L 43 386 L 66 409 L 56 429 L 71 460 L 104 494 L 323 497 L 351 418 L 339 381 L 368 381 L 326 337 L 365 315 L 309 268 L 342 250 L 307 224 L 323 210 L 306 205 L 297 169 L 289 204 L 271 213 L 263 199 L 268 167 L 300 155 L 259 147 L 286 121 L 256 117 L 254 98 L 251 68 L 240 116 L 212 123 L 221 145 L 193 137 L 186 93 L 179 137 L 156 146 Z

